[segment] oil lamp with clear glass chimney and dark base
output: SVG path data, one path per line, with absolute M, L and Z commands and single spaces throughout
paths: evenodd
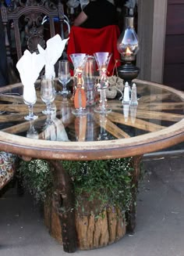
M 139 39 L 133 27 L 133 16 L 125 17 L 125 29 L 119 36 L 117 49 L 123 62 L 122 66 L 118 67 L 119 78 L 131 85 L 132 80 L 140 73 L 139 67 L 134 65 L 139 50 Z

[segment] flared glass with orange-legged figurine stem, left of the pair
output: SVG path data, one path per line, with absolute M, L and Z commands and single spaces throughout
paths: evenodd
M 87 114 L 87 96 L 83 81 L 83 68 L 87 62 L 86 53 L 73 53 L 70 55 L 74 66 L 74 78 L 76 78 L 76 88 L 74 94 L 74 107 L 72 110 L 75 115 Z

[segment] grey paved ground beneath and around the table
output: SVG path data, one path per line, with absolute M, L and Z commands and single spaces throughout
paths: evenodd
M 144 160 L 133 236 L 76 256 L 184 256 L 184 157 Z M 0 256 L 68 255 L 48 234 L 30 195 L 0 199 Z

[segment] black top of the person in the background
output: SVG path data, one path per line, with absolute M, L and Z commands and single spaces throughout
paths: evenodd
M 83 9 L 83 13 L 87 15 L 87 20 L 81 27 L 101 28 L 117 24 L 115 5 L 112 5 L 107 0 L 90 2 Z

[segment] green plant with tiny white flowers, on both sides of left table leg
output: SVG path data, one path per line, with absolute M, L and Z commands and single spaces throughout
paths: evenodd
M 108 207 L 129 210 L 132 200 L 131 157 L 113 160 L 62 161 L 72 178 L 76 208 L 85 213 L 98 214 Z M 37 200 L 45 200 L 52 193 L 52 178 L 46 160 L 21 161 L 18 170 L 24 186 Z

